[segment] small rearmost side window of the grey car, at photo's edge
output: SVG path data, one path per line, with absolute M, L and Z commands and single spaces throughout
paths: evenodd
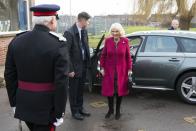
M 180 38 L 185 52 L 196 53 L 196 40 L 188 38 Z

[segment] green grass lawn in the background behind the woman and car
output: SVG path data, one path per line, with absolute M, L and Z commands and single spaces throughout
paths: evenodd
M 159 28 L 159 27 L 149 27 L 149 26 L 128 26 L 124 27 L 126 34 L 135 32 L 135 31 L 148 31 L 148 30 L 166 30 L 166 28 Z M 196 28 L 191 28 L 191 31 L 196 31 Z M 106 34 L 106 37 L 109 34 Z M 99 40 L 101 39 L 102 35 L 97 36 L 89 36 L 89 46 L 96 48 Z

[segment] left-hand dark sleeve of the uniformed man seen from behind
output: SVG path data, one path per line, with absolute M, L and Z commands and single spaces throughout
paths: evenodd
M 6 62 L 4 78 L 6 82 L 6 89 L 9 97 L 11 107 L 16 106 L 16 90 L 18 88 L 17 70 L 13 56 L 14 40 L 9 44 Z

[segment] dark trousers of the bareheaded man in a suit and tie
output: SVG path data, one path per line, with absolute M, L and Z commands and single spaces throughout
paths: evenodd
M 86 80 L 86 67 L 83 68 L 82 77 L 69 79 L 69 102 L 72 114 L 83 109 L 83 88 Z

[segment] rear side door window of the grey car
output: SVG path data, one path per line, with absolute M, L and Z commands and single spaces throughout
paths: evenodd
M 177 52 L 177 49 L 174 37 L 148 36 L 144 52 Z

